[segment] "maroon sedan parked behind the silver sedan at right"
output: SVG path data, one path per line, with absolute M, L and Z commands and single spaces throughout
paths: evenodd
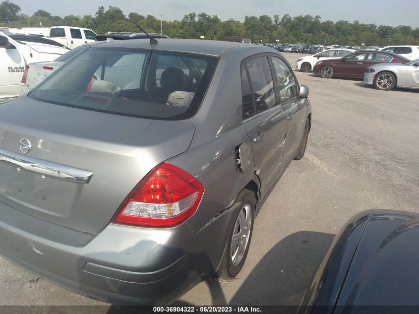
M 363 78 L 368 66 L 383 62 L 407 63 L 409 59 L 391 52 L 359 51 L 341 59 L 322 60 L 314 64 L 313 73 L 323 78 L 332 76 Z

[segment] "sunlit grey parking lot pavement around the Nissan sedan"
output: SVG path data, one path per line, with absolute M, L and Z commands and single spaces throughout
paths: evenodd
M 285 54 L 293 68 L 301 54 Z M 305 156 L 291 163 L 255 220 L 239 277 L 203 282 L 192 305 L 298 305 L 334 235 L 370 208 L 419 211 L 419 91 L 296 71 L 310 89 Z M 0 258 L 0 305 L 95 305 Z

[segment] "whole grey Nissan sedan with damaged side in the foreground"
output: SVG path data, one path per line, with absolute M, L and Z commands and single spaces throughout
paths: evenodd
M 0 105 L 0 254 L 115 304 L 236 276 L 254 217 L 304 155 L 307 96 L 269 47 L 89 47 Z

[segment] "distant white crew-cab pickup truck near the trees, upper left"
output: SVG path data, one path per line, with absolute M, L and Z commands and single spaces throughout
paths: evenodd
M 96 37 L 96 33 L 90 29 L 70 26 L 51 27 L 47 35 L 70 49 L 94 42 Z

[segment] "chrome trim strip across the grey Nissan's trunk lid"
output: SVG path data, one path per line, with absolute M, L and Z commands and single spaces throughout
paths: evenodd
M 76 183 L 89 183 L 93 172 L 77 169 L 53 162 L 45 161 L 30 156 L 24 156 L 0 148 L 0 162 L 8 165 L 53 177 L 60 180 L 73 181 Z

